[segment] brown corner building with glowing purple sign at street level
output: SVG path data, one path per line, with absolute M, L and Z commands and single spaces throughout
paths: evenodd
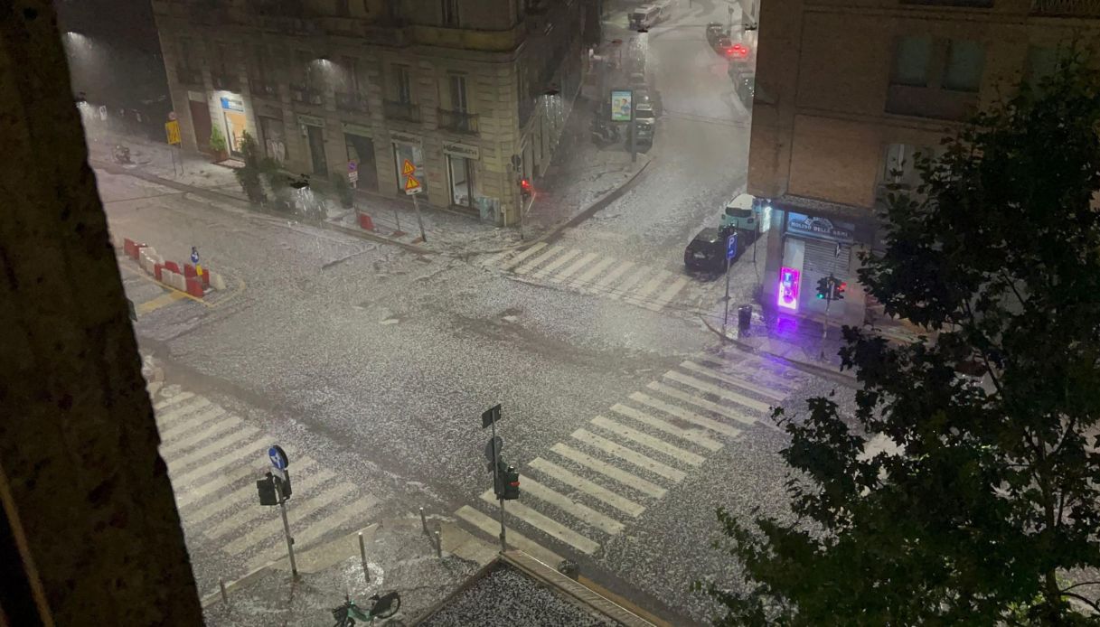
M 861 323 L 857 253 L 879 244 L 888 182 L 916 183 L 966 117 L 1100 41 L 1098 0 L 763 0 L 748 191 L 771 199 L 765 304 Z

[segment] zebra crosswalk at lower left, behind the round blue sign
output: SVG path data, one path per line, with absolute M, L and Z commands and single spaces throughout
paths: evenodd
M 209 398 L 169 386 L 153 405 L 188 544 L 219 551 L 242 570 L 283 556 L 278 513 L 261 506 L 255 481 L 270 470 L 271 437 Z M 293 446 L 287 516 L 295 544 L 366 524 L 378 498 Z M 193 547 L 193 552 L 197 547 Z

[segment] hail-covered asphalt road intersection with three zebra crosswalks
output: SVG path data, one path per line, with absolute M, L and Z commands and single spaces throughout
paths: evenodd
M 116 235 L 179 261 L 198 246 L 227 278 L 201 304 L 120 261 L 165 370 L 162 452 L 204 593 L 285 551 L 252 485 L 272 442 L 292 457 L 299 547 L 418 507 L 495 541 L 480 415 L 499 403 L 522 474 L 509 540 L 673 624 L 706 618 L 689 583 L 736 574 L 710 547 L 714 507 L 785 510 L 769 407 L 833 386 L 723 349 L 690 315 L 705 285 L 682 275 L 683 245 L 745 178 L 747 113 L 703 38 L 724 7 L 650 32 L 659 158 L 542 250 L 422 255 L 99 174 Z

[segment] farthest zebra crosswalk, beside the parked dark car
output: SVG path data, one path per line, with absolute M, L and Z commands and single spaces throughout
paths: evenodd
M 651 311 L 683 309 L 703 286 L 667 270 L 615 258 L 563 244 L 535 243 L 483 258 L 486 270 L 524 280 L 547 282 L 574 292 L 596 294 Z

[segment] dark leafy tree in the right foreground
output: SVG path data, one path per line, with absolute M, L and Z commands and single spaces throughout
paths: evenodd
M 1094 625 L 1100 75 L 1074 53 L 916 164 L 859 278 L 935 341 L 844 330 L 855 416 L 776 417 L 796 520 L 719 508 L 745 586 L 719 625 Z M 1092 206 L 1090 206 L 1092 204 Z M 977 364 L 982 384 L 960 376 Z M 873 437 L 897 450 L 868 453 Z M 1072 602 L 1072 603 L 1071 603 Z

